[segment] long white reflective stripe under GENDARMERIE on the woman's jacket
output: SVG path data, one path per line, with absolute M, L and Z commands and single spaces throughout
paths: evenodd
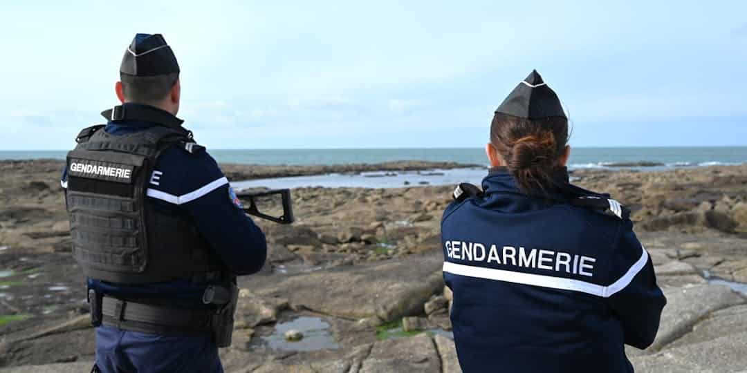
M 609 298 L 616 292 L 624 289 L 648 261 L 648 253 L 641 246 L 643 254 L 639 260 L 625 272 L 622 278 L 616 280 L 610 286 L 601 286 L 571 278 L 556 278 L 553 276 L 535 275 L 532 273 L 506 271 L 504 269 L 492 269 L 476 266 L 465 266 L 451 262 L 444 262 L 444 272 L 453 275 L 468 276 L 471 278 L 485 278 L 486 280 L 499 280 L 510 283 L 523 283 L 524 285 L 549 287 L 552 289 L 571 290 L 574 292 L 585 292 L 602 298 Z

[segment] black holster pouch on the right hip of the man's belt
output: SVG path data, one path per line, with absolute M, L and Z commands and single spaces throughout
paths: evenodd
M 229 347 L 233 336 L 238 286 L 235 283 L 229 283 L 229 286 L 210 286 L 205 289 L 202 302 L 219 306 L 211 318 L 213 339 L 218 347 Z

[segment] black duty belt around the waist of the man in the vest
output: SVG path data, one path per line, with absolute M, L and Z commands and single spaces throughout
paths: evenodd
M 92 309 L 91 312 L 95 310 Z M 214 312 L 143 304 L 103 296 L 101 315 L 102 325 L 122 330 L 158 334 L 209 335 Z

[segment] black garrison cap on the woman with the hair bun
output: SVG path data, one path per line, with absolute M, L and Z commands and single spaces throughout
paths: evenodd
M 567 118 L 560 99 L 548 84 L 542 81 L 537 70 L 532 70 L 530 75 L 509 93 L 495 112 L 526 119 L 542 119 L 548 116 Z

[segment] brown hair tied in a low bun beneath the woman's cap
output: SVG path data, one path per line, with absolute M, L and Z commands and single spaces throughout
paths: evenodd
M 490 142 L 524 192 L 546 192 L 568 144 L 568 119 L 524 119 L 495 113 Z

